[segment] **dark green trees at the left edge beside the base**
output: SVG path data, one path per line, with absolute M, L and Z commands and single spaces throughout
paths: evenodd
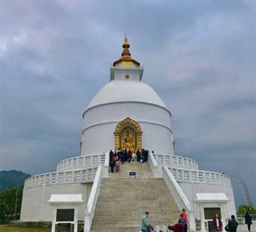
M 22 188 L 12 188 L 0 193 L 0 224 L 6 224 L 14 218 L 19 220 L 22 193 Z

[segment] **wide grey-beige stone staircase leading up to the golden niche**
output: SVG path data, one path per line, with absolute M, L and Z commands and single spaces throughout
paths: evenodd
M 129 171 L 136 171 L 136 178 L 129 178 Z M 153 178 L 147 163 L 122 164 L 120 172 L 101 181 L 91 231 L 138 232 L 145 211 L 153 226 L 178 220 L 178 207 L 164 179 Z

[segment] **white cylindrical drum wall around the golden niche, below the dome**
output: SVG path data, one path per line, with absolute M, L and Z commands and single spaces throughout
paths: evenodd
M 173 155 L 171 115 L 160 106 L 122 102 L 96 106 L 83 119 L 83 155 L 114 150 L 114 130 L 118 122 L 130 117 L 143 131 L 142 147 Z

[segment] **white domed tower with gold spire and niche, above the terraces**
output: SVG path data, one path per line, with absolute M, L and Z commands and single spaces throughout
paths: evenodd
M 83 113 L 81 155 L 118 148 L 173 155 L 171 112 L 142 82 L 144 68 L 131 57 L 125 37 L 122 57 L 111 67 L 110 82 Z

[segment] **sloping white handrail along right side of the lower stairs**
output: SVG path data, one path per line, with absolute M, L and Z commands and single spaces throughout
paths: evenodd
M 169 187 L 169 189 L 171 190 L 172 193 L 174 193 L 174 191 L 176 191 L 175 198 L 178 200 L 177 197 L 180 197 L 180 200 L 182 201 L 184 206 L 187 208 L 187 210 L 192 211 L 192 207 L 191 207 L 189 200 L 187 200 L 187 197 L 184 194 L 184 191 L 182 191 L 182 189 L 180 188 L 180 185 L 178 184 L 178 182 L 176 182 L 171 171 L 166 166 L 164 166 L 163 168 L 164 168 L 163 176 L 164 176 L 165 183 L 167 184 L 167 186 Z M 170 184 L 173 186 L 173 188 L 172 188 L 172 186 L 170 186 Z M 181 204 L 178 204 L 178 205 L 180 205 L 180 208 L 182 208 Z

